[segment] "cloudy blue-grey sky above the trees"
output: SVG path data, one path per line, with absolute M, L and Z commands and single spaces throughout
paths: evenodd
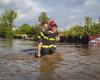
M 54 18 L 60 29 L 82 25 L 84 16 L 100 17 L 100 0 L 0 0 L 0 13 L 14 9 L 18 13 L 16 25 L 36 24 L 41 12 Z

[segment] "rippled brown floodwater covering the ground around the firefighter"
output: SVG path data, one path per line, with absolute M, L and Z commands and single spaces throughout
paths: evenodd
M 100 80 L 100 47 L 59 44 L 34 58 L 33 41 L 0 40 L 0 80 Z

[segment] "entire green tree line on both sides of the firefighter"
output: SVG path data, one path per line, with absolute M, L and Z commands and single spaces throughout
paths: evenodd
M 41 12 L 38 17 L 38 23 L 35 25 L 29 25 L 27 23 L 21 26 L 14 25 L 14 20 L 17 18 L 17 12 L 15 10 L 9 9 L 4 10 L 0 15 L 0 37 L 3 38 L 14 38 L 14 36 L 19 34 L 27 34 L 29 37 L 37 37 L 41 30 L 42 24 L 48 21 L 50 18 L 45 12 Z M 15 30 L 14 27 L 18 27 Z M 100 18 L 98 21 L 94 21 L 92 17 L 84 17 L 84 25 L 74 25 L 69 30 L 60 31 L 62 36 L 65 38 L 79 38 L 83 36 L 89 36 L 94 34 L 100 34 Z M 70 39 L 71 39 L 70 38 Z

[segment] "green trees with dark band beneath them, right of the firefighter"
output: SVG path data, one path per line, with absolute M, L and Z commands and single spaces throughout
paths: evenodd
M 62 32 L 62 42 L 88 43 L 89 36 L 100 34 L 100 18 L 94 21 L 92 17 L 84 17 L 84 25 L 74 25 Z

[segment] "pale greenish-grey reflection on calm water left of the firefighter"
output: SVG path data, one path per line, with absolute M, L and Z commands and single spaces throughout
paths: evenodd
M 23 49 L 33 48 L 33 41 L 25 40 L 0 40 L 0 53 L 21 53 Z

